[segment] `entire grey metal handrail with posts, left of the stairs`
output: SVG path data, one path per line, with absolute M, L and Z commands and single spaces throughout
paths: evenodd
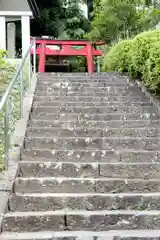
M 31 87 L 31 58 L 30 58 L 30 51 L 33 48 L 33 74 L 36 74 L 36 39 L 33 38 L 32 42 L 25 53 L 24 57 L 22 58 L 22 62 L 18 67 L 15 75 L 13 76 L 7 90 L 5 91 L 1 101 L 0 101 L 0 112 L 3 111 L 5 108 L 5 116 L 4 116 L 4 164 L 5 169 L 8 168 L 8 160 L 9 160 L 9 97 L 11 92 L 17 83 L 18 79 L 20 79 L 20 118 L 23 118 L 23 98 L 24 98 L 24 78 L 23 78 L 23 68 L 28 61 L 28 86 Z

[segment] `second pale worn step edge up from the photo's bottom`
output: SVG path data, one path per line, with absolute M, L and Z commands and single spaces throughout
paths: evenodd
M 8 217 L 40 217 L 40 216 L 55 216 L 55 215 L 81 215 L 84 217 L 90 216 L 106 216 L 106 215 L 134 215 L 134 216 L 160 216 L 160 210 L 149 210 L 149 211 L 138 211 L 138 210 L 98 210 L 98 211 L 86 211 L 86 210 L 70 210 L 70 209 L 62 209 L 55 211 L 39 211 L 39 212 L 7 212 L 5 214 L 5 218 Z

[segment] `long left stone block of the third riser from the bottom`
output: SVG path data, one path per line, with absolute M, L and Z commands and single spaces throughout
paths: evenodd
M 156 186 L 160 187 L 160 182 Z M 18 193 L 90 193 L 95 191 L 96 182 L 93 178 L 16 178 L 14 183 L 14 192 Z

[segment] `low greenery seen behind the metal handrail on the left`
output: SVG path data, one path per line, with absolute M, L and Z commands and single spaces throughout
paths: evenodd
M 0 59 L 1 62 L 1 59 Z M 18 63 L 9 63 L 7 60 L 4 60 L 0 64 L 0 98 L 5 93 L 10 81 L 12 80 L 13 75 L 16 72 Z M 24 77 L 24 90 L 28 85 L 28 65 L 24 66 L 23 77 Z M 4 116 L 5 116 L 5 107 L 3 107 L 0 112 L 0 170 L 4 167 Z M 20 116 L 20 83 L 17 81 L 14 86 L 10 98 L 9 98 L 9 137 L 15 129 L 16 121 Z M 11 144 L 9 145 L 11 148 Z

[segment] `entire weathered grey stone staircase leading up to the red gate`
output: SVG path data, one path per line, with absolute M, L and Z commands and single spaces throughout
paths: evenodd
M 160 239 L 160 120 L 118 74 L 39 74 L 0 239 Z

